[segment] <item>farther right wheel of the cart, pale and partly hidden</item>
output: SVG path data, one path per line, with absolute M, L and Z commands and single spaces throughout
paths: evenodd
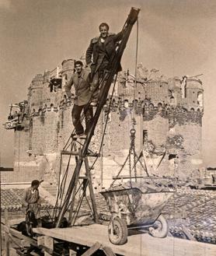
M 164 216 L 160 215 L 158 219 L 156 219 L 155 223 L 149 228 L 149 233 L 153 237 L 163 238 L 167 236 L 169 231 L 169 226 L 164 218 Z

